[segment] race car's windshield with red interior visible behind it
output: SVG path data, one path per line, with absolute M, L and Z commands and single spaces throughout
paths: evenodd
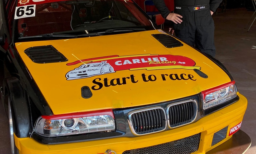
M 19 39 L 52 33 L 81 35 L 120 28 L 154 29 L 131 0 L 31 0 L 18 3 L 15 19 Z

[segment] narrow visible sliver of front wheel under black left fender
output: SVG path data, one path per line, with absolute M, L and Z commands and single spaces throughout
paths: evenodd
M 10 143 L 11 143 L 11 154 L 19 154 L 19 150 L 15 145 L 14 134 L 13 134 L 13 123 L 12 113 L 11 113 L 11 102 L 10 98 L 8 98 L 8 120 L 9 120 L 9 133 L 10 133 Z

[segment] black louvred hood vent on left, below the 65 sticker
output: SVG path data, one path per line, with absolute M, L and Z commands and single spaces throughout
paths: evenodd
M 35 63 L 56 63 L 68 61 L 63 54 L 51 45 L 27 48 L 24 52 Z

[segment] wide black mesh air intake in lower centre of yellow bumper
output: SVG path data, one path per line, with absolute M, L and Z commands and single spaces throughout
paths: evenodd
M 168 143 L 124 151 L 122 154 L 190 154 L 198 150 L 201 133 Z

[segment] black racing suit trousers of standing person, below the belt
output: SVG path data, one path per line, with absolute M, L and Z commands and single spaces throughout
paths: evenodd
M 215 27 L 210 9 L 194 12 L 175 9 L 174 13 L 183 17 L 181 24 L 174 24 L 175 35 L 201 52 L 215 56 Z

